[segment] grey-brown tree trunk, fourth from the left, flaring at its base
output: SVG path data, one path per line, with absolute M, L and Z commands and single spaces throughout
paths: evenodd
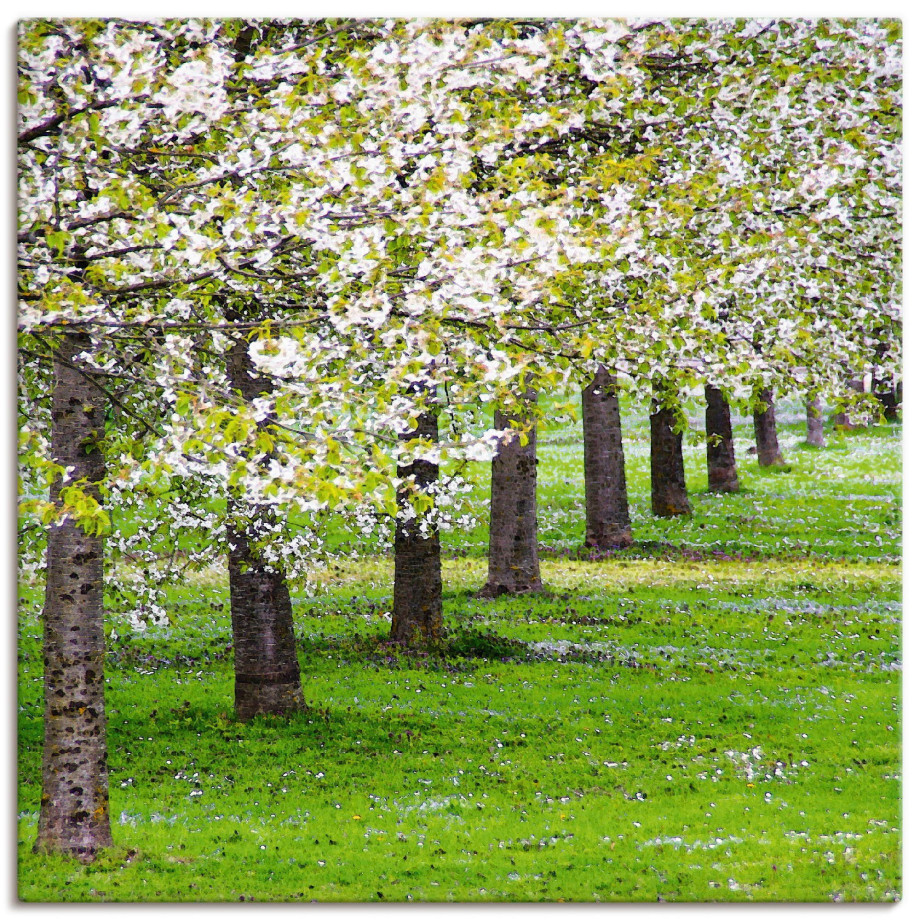
M 511 421 L 495 413 L 496 428 L 508 428 Z M 515 433 L 492 460 L 489 576 L 480 592 L 483 597 L 543 590 L 537 556 L 536 425 L 526 432 L 526 440 L 522 446 Z

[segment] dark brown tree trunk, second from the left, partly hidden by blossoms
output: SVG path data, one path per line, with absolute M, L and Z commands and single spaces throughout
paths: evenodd
M 227 372 L 231 387 L 249 402 L 271 391 L 271 382 L 255 373 L 242 337 L 227 353 Z M 257 547 L 273 515 L 269 508 L 235 498 L 228 511 L 247 521 L 228 534 L 236 717 L 287 715 L 304 708 L 304 696 L 287 579 Z

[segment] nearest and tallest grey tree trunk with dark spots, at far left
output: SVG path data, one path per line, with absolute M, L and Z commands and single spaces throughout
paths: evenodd
M 105 399 L 80 368 L 84 334 L 61 336 L 54 357 L 51 455 L 70 481 L 99 498 Z M 62 506 L 60 479 L 50 500 Z M 105 633 L 101 536 L 65 518 L 48 528 L 44 621 L 45 738 L 35 851 L 91 862 L 112 845 L 105 737 Z

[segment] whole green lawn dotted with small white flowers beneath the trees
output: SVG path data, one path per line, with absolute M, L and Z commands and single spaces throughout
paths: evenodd
M 634 548 L 582 558 L 579 431 L 550 426 L 548 591 L 476 598 L 483 465 L 478 525 L 444 537 L 450 639 L 381 644 L 392 560 L 343 555 L 295 596 L 310 708 L 290 722 L 232 718 L 225 573 L 173 589 L 169 628 L 113 614 L 116 847 L 90 867 L 31 852 L 41 584 L 21 584 L 20 898 L 898 900 L 900 428 L 814 450 L 782 405 L 792 469 L 763 473 L 739 420 L 731 496 L 705 493 L 691 434 L 694 516 L 661 521 L 640 410 Z

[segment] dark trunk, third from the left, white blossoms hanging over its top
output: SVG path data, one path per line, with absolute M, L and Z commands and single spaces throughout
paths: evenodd
M 416 418 L 417 428 L 401 435 L 402 440 L 423 438 L 436 443 L 437 414 L 425 412 Z M 397 474 L 401 480 L 411 480 L 416 489 L 426 492 L 437 481 L 438 465 L 427 460 L 413 460 L 398 467 Z M 431 642 L 444 637 L 441 537 L 436 523 L 426 522 L 412 512 L 411 491 L 403 485 L 396 493 L 396 567 L 390 638 L 403 644 Z

